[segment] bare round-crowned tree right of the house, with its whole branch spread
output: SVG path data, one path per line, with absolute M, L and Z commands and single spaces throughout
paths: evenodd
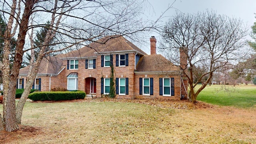
M 216 12 L 196 14 L 176 13 L 163 28 L 162 52 L 174 64 L 180 65 L 179 49 L 187 51 L 188 65 L 180 67 L 188 78 L 190 92 L 188 98 L 196 102 L 198 94 L 210 82 L 215 71 L 228 64 L 235 64 L 244 54 L 244 37 L 247 28 L 236 18 L 218 15 Z M 243 51 L 243 52 L 242 52 Z M 205 72 L 194 81 L 196 66 Z M 207 76 L 198 90 L 196 85 Z

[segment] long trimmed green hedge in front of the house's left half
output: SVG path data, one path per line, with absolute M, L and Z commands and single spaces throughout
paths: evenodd
M 76 100 L 84 99 L 86 96 L 85 92 L 33 92 L 29 94 L 28 98 L 33 101 L 58 101 L 58 100 Z

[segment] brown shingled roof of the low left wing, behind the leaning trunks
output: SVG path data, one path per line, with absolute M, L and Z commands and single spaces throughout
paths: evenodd
M 38 68 L 38 75 L 45 75 L 45 74 L 58 74 L 65 68 L 62 66 L 63 62 L 60 58 L 56 58 L 54 56 L 43 58 L 40 66 Z M 20 69 L 19 75 L 26 75 L 28 74 L 29 66 Z

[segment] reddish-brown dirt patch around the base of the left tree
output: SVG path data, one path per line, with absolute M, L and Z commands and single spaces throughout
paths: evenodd
M 39 128 L 34 128 L 32 126 L 19 125 L 19 130 L 16 132 L 0 132 L 0 144 L 5 144 L 9 142 L 14 142 L 17 139 L 29 138 L 36 135 L 42 134 Z

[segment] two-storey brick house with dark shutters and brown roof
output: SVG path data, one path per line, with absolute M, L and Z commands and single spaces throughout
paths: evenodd
M 112 65 L 116 98 L 180 100 L 184 93 L 180 68 L 156 54 L 154 36 L 150 38 L 150 47 L 148 55 L 122 36 L 101 38 L 79 50 L 44 58 L 33 88 L 50 91 L 60 87 L 102 97 L 110 91 Z M 20 69 L 17 88 L 26 85 L 27 72 L 28 66 Z

